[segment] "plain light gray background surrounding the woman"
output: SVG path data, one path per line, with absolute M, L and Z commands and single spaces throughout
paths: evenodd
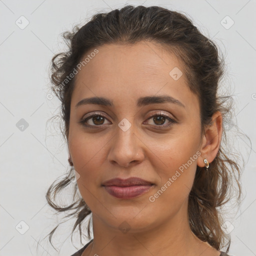
M 41 240 L 60 221 L 46 203 L 46 190 L 68 167 L 58 120 L 46 123 L 59 112 L 60 103 L 49 90 L 50 59 L 63 48 L 61 32 L 98 11 L 125 3 L 183 11 L 223 50 L 228 72 L 225 85 L 235 95 L 238 130 L 252 143 L 250 151 L 246 137 L 234 141 L 246 165 L 240 210 L 227 210 L 233 226 L 229 254 L 256 255 L 255 0 L 0 0 L 0 255 L 57 255 L 47 238 Z M 21 29 L 26 20 L 29 24 Z M 232 125 L 229 128 L 231 134 Z M 73 223 L 59 227 L 58 238 L 53 239 L 60 255 L 71 255 L 82 246 L 78 234 L 73 239 L 76 248 L 71 244 Z

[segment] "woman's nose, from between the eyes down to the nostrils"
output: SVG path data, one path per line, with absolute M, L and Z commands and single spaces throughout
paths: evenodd
M 123 118 L 116 127 L 116 135 L 113 137 L 108 160 L 127 166 L 130 162 L 141 161 L 143 150 L 135 135 L 136 126 Z

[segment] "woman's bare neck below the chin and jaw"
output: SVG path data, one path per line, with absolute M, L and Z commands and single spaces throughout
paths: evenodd
M 182 207 L 187 205 L 184 204 Z M 174 216 L 161 223 L 148 225 L 144 230 L 139 231 L 131 227 L 125 233 L 121 232 L 118 226 L 109 226 L 92 214 L 93 241 L 84 250 L 82 256 L 192 256 L 200 253 L 203 255 L 207 249 L 212 250 L 208 244 L 192 233 L 187 214 L 182 212 L 187 210 L 180 208 Z

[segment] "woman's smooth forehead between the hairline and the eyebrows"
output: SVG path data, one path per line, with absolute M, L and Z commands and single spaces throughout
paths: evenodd
M 123 101 L 159 92 L 181 102 L 185 97 L 193 97 L 187 86 L 183 63 L 158 43 L 113 43 L 97 47 L 97 50 L 98 53 L 75 76 L 71 105 L 85 96 L 115 97 Z M 175 80 L 170 75 L 171 70 L 183 74 Z

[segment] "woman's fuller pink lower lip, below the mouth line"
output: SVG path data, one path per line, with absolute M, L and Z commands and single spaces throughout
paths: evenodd
M 104 186 L 106 191 L 122 199 L 133 198 L 138 195 L 146 193 L 152 185 L 136 185 L 136 186 Z

